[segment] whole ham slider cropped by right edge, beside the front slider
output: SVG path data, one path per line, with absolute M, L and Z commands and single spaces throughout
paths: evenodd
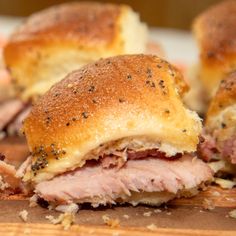
M 221 164 L 218 169 L 235 174 L 236 72 L 221 81 L 208 109 L 204 130 L 205 141 L 199 148 L 202 158 L 207 161 L 223 160 L 224 165 Z

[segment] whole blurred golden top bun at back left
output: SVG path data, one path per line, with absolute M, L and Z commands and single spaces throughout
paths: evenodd
M 146 42 L 147 27 L 129 6 L 67 3 L 30 16 L 11 35 L 4 59 L 27 100 L 91 61 L 142 53 Z

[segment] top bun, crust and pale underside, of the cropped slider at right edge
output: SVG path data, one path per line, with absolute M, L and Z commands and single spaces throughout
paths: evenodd
M 228 115 L 227 115 L 228 114 Z M 229 74 L 220 83 L 207 112 L 206 126 L 212 131 L 225 128 L 226 123 L 236 125 L 236 72 Z M 229 119 L 229 122 L 226 122 Z

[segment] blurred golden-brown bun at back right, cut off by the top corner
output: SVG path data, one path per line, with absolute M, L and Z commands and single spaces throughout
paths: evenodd
M 222 1 L 193 24 L 200 48 L 200 79 L 209 98 L 220 81 L 236 69 L 236 1 Z

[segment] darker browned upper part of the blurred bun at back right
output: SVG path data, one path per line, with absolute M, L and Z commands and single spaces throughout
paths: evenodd
M 227 62 L 236 56 L 236 1 L 222 1 L 194 21 L 194 32 L 205 63 Z

